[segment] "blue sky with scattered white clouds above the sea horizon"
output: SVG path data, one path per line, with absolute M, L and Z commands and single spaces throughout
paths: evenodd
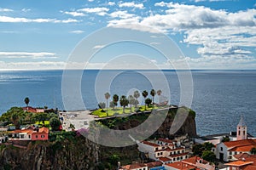
M 253 0 L 0 0 L 0 70 L 64 69 L 79 42 L 106 28 L 113 28 L 113 32 L 96 37 L 96 42 L 97 38 L 114 37 L 114 29 L 147 32 L 154 41 L 148 47 L 137 42 L 107 46 L 92 40 L 92 50 L 99 51 L 84 61 L 86 68 L 103 68 L 120 55 L 129 59 L 132 52 L 168 69 L 164 57 L 154 50 L 158 46 L 168 48 L 169 44 L 155 38 L 160 35 L 175 42 L 183 53 L 180 60 L 190 69 L 256 68 Z M 173 60 L 180 56 L 176 57 Z M 72 65 L 84 68 L 84 63 L 73 61 Z M 117 65 L 123 68 L 116 63 L 112 67 Z

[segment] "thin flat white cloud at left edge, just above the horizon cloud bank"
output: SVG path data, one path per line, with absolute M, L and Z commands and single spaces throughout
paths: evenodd
M 56 54 L 48 52 L 0 52 L 0 58 L 4 59 L 55 59 Z

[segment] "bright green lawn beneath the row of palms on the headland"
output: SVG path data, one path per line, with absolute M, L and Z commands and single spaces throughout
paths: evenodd
M 130 114 L 131 112 L 135 112 L 136 110 L 140 110 L 140 111 L 145 111 L 145 106 L 144 105 L 141 105 L 139 106 L 139 108 L 135 108 L 134 106 L 130 107 L 125 107 L 125 113 L 123 113 L 123 108 L 122 107 L 116 107 L 116 108 L 108 108 L 108 116 L 113 116 L 114 114 Z M 152 111 L 152 107 L 148 107 L 147 106 L 147 111 Z M 154 109 L 158 109 L 158 107 L 154 106 Z M 105 117 L 107 116 L 107 109 L 105 108 L 104 111 L 102 111 L 102 109 L 98 109 L 96 111 L 93 111 L 92 112 L 92 115 L 95 115 L 95 116 L 99 116 L 99 117 Z

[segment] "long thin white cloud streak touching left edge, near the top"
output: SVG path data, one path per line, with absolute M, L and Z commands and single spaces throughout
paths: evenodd
M 67 20 L 56 20 L 56 19 L 27 19 L 27 18 L 15 18 L 9 16 L 0 16 L 0 22 L 51 22 L 51 23 L 71 23 L 71 22 L 79 22 L 79 20 L 67 19 Z

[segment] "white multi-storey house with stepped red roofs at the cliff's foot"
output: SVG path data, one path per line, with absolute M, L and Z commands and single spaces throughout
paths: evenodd
M 176 140 L 170 139 L 158 139 L 155 142 L 143 141 L 138 144 L 138 150 L 147 154 L 150 159 L 164 164 L 189 158 L 189 152 L 185 147 Z

